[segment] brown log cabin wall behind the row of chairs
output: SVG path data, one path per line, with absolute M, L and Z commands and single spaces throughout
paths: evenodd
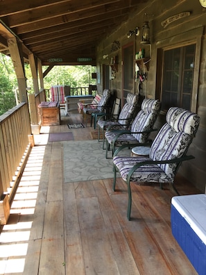
M 190 12 L 189 16 L 173 20 L 167 26 L 162 26 L 166 23 L 166 19 L 179 15 L 182 12 Z M 146 15 L 147 14 L 147 18 Z M 143 22 L 149 21 L 150 26 L 150 46 L 140 44 L 141 41 L 141 26 Z M 134 30 L 137 26 L 140 27 L 139 36 L 132 35 L 127 38 L 127 33 Z M 108 35 L 103 41 L 98 44 L 97 53 L 97 70 L 100 73 L 98 79 L 98 90 L 102 90 L 105 85 L 103 67 L 110 67 L 110 59 L 112 56 L 118 56 L 118 72 L 114 79 L 110 79 L 110 89 L 117 94 L 117 97 L 122 97 L 123 83 L 123 57 L 122 47 L 128 43 L 134 44 L 134 63 L 135 53 L 139 49 L 145 49 L 146 56 L 151 57 L 147 79 L 142 83 L 141 94 L 144 97 L 160 98 L 161 83 L 162 83 L 162 60 L 160 53 L 162 49 L 170 47 L 181 47 L 191 42 L 196 44 L 196 61 L 194 69 L 194 87 L 192 92 L 191 110 L 198 113 L 200 116 L 200 126 L 196 138 L 189 149 L 189 154 L 195 156 L 195 160 L 188 161 L 180 167 L 180 173 L 187 178 L 191 183 L 194 183 L 197 188 L 205 192 L 205 162 L 206 162 L 206 8 L 200 6 L 198 0 L 155 0 L 150 3 L 142 3 L 142 9 L 135 10 L 128 22 L 117 28 L 112 35 Z M 118 41 L 120 49 L 111 51 L 114 41 Z M 151 52 L 150 52 L 151 51 Z M 134 83 L 131 92 L 137 93 L 137 84 Z M 165 113 L 160 114 L 157 119 L 157 126 L 162 126 L 165 119 Z

